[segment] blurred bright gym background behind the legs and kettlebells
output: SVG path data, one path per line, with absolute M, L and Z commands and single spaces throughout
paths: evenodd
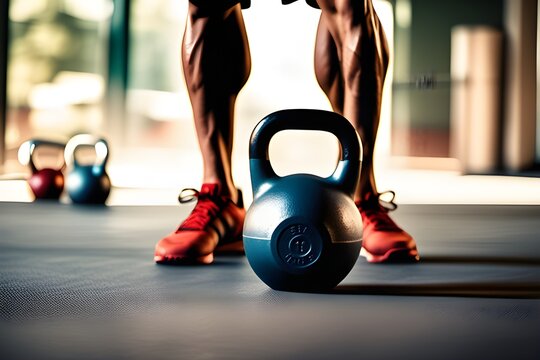
M 110 205 L 176 204 L 202 165 L 180 67 L 187 0 L 0 0 L 0 201 L 31 201 L 17 159 L 34 137 L 107 138 Z M 377 0 L 391 46 L 376 173 L 398 203 L 540 204 L 537 0 Z M 253 1 L 253 68 L 236 108 L 234 177 L 285 108 L 330 109 L 313 74 L 320 11 Z M 280 175 L 332 173 L 332 135 L 288 131 Z

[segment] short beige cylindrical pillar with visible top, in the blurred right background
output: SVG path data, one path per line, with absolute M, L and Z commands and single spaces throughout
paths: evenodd
M 500 165 L 503 35 L 487 26 L 452 29 L 450 152 L 464 173 Z

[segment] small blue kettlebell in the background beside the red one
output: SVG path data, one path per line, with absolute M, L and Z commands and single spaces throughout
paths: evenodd
M 93 164 L 81 164 L 77 160 L 76 150 L 81 146 L 94 146 L 96 159 Z M 105 166 L 109 159 L 109 146 L 103 138 L 90 134 L 72 137 L 64 151 L 69 172 L 66 178 L 66 190 L 73 203 L 104 204 L 111 191 L 111 181 Z

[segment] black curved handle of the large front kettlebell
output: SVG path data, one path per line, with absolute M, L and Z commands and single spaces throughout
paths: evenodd
M 353 195 L 360 176 L 362 145 L 358 133 L 343 116 L 325 110 L 288 109 L 267 115 L 255 127 L 249 144 L 253 193 L 269 178 L 278 175 L 272 169 L 268 149 L 272 137 L 283 130 L 320 130 L 334 134 L 341 145 L 338 165 L 327 181 Z

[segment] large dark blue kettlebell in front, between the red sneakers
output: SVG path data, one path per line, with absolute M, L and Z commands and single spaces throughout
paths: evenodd
M 322 130 L 337 137 L 341 155 L 332 175 L 280 177 L 274 172 L 270 139 L 289 129 Z M 257 124 L 249 144 L 253 203 L 243 241 L 250 266 L 269 287 L 324 291 L 351 271 L 362 245 L 362 220 L 353 201 L 361 159 L 356 130 L 334 112 L 281 110 Z

